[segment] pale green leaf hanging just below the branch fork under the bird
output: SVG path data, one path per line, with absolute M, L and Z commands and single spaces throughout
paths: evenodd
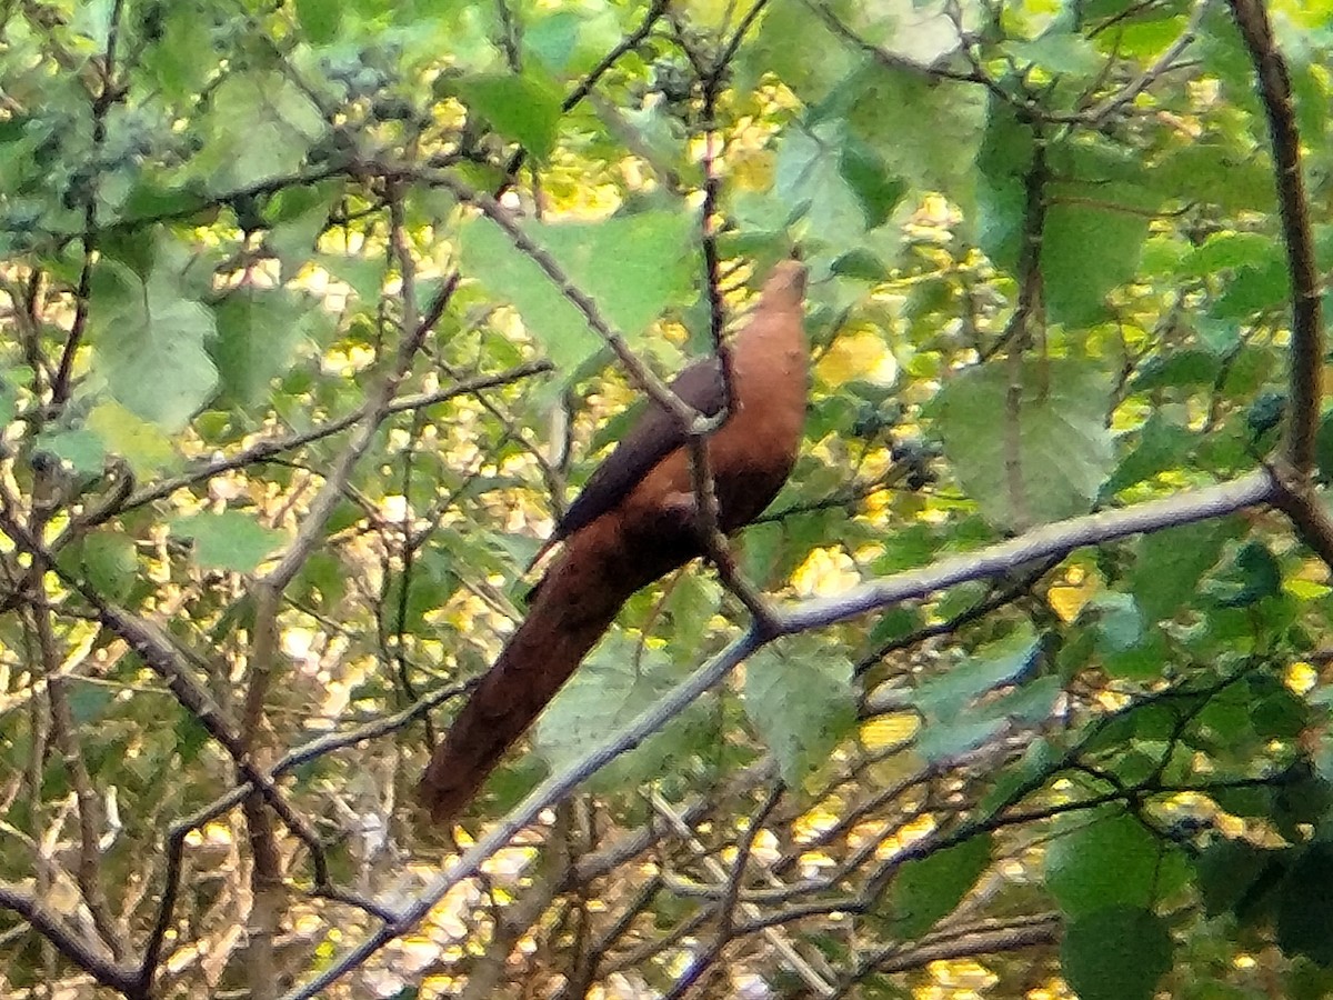
M 800 788 L 856 724 L 852 663 L 813 637 L 768 645 L 745 664 L 745 715 Z

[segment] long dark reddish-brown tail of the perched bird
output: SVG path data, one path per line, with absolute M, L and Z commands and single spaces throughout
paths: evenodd
M 615 517 L 565 543 L 536 588 L 528 616 L 435 748 L 420 785 L 421 803 L 435 821 L 452 820 L 468 804 L 631 595 L 692 555 L 632 545 Z

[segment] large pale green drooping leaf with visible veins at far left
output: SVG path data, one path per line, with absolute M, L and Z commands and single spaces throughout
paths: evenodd
M 104 260 L 93 273 L 89 317 L 107 387 L 131 412 L 175 432 L 212 397 L 217 369 L 204 341 L 213 316 L 184 295 L 179 277 L 155 269 L 144 283 Z

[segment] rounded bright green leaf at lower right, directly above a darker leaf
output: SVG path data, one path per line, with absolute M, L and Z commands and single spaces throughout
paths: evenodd
M 1073 917 L 1108 907 L 1146 907 L 1158 885 L 1162 841 L 1124 812 L 1100 816 L 1077 820 L 1080 825 L 1046 848 L 1046 888 Z

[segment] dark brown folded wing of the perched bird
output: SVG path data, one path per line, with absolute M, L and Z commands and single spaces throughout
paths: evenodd
M 714 416 L 721 412 L 726 392 L 721 364 L 716 357 L 696 361 L 676 376 L 670 389 L 698 412 Z M 649 400 L 644 415 L 569 504 L 555 537 L 567 539 L 615 508 L 657 463 L 684 444 L 685 435 L 672 415 Z

